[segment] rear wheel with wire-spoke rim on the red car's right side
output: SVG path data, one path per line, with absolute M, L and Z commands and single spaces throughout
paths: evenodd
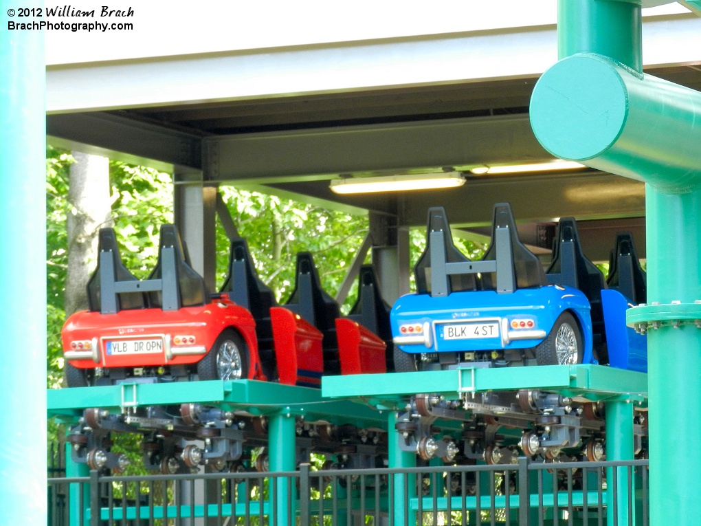
M 197 364 L 200 380 L 238 380 L 248 377 L 248 348 L 238 332 L 222 331 L 212 349 Z

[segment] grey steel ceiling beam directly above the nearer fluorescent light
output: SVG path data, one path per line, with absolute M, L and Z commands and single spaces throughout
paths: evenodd
M 224 135 L 205 142 L 219 149 L 217 181 L 237 184 L 552 159 L 526 114 Z

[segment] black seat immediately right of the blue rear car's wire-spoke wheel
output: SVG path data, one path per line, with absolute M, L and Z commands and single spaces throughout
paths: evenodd
M 578 288 L 589 299 L 592 306 L 594 349 L 599 353 L 599 361 L 604 363 L 606 351 L 602 344 L 606 343 L 606 334 L 601 290 L 606 288 L 606 281 L 599 267 L 584 255 L 577 223 L 573 217 L 563 217 L 558 224 L 557 240 L 552 249 L 552 263 L 546 274 L 547 280 L 553 285 Z

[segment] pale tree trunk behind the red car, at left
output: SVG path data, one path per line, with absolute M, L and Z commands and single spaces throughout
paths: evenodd
M 68 269 L 66 272 L 66 316 L 88 308 L 86 286 L 97 261 L 97 234 L 111 227 L 109 160 L 97 155 L 72 152 L 68 183 Z

